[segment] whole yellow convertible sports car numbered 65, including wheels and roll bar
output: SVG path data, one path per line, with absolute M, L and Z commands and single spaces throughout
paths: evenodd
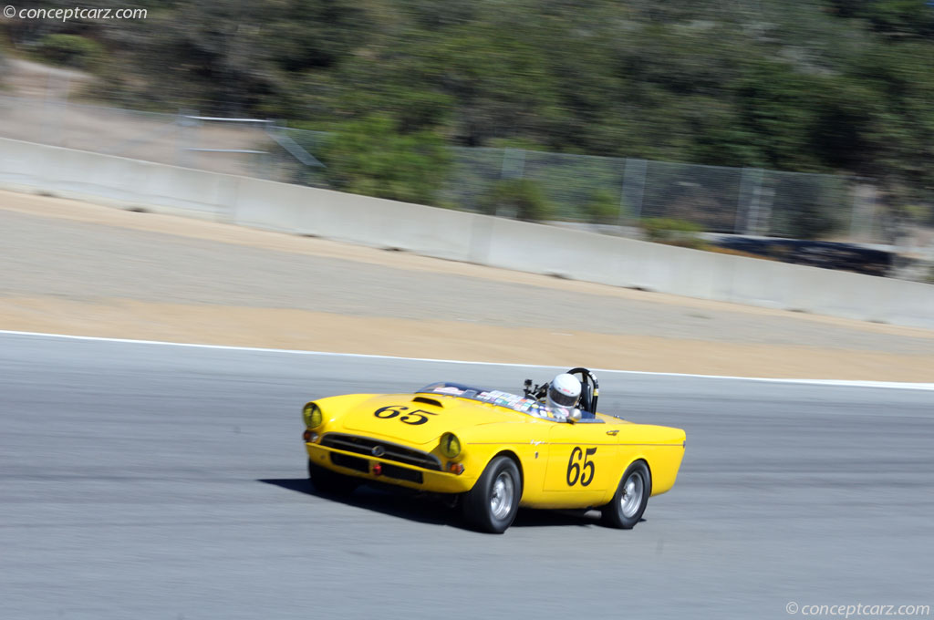
M 632 528 L 650 496 L 672 488 L 685 431 L 597 413 L 599 386 L 587 369 L 567 418 L 526 381 L 520 396 L 456 383 L 414 394 L 349 394 L 304 405 L 308 474 L 341 494 L 379 481 L 446 494 L 480 530 L 502 533 L 518 507 L 596 508 Z

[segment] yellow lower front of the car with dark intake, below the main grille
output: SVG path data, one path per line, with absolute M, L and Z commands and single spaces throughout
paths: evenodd
M 467 472 L 460 475 L 439 472 L 388 458 L 361 455 L 317 443 L 305 443 L 304 445 L 308 452 L 308 460 L 312 464 L 333 472 L 374 482 L 416 488 L 432 493 L 463 493 L 473 488 L 476 482 L 476 477 Z M 379 468 L 374 468 L 377 463 Z

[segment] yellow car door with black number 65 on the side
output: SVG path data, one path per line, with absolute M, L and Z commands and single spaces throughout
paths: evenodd
M 619 480 L 615 429 L 600 423 L 555 423 L 548 433 L 545 492 L 599 500 Z

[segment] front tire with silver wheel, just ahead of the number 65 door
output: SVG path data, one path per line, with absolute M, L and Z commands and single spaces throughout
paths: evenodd
M 489 461 L 474 488 L 460 501 L 467 522 L 480 531 L 502 534 L 513 524 L 522 499 L 522 477 L 516 461 L 497 457 Z

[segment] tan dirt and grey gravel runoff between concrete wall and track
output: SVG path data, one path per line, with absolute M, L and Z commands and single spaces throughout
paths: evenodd
M 934 331 L 0 192 L 0 329 L 558 366 L 934 382 Z

